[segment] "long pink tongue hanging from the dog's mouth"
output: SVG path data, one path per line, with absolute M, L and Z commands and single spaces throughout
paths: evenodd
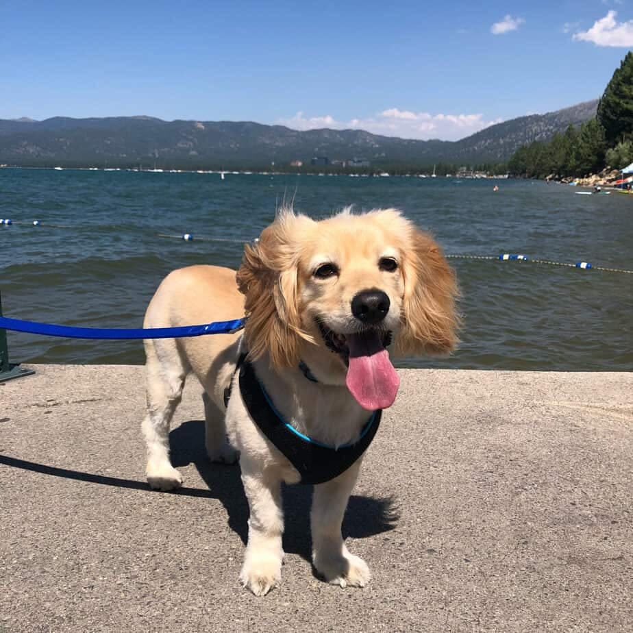
M 362 408 L 386 409 L 400 386 L 389 353 L 378 334 L 348 334 L 349 368 L 345 383 Z

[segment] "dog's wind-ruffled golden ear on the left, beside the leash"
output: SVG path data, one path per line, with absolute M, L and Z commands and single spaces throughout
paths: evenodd
M 247 244 L 236 280 L 245 295 L 244 328 L 249 357 L 268 353 L 273 367 L 299 364 L 299 341 L 312 340 L 301 328 L 298 305 L 300 236 L 313 221 L 286 210 L 264 229 L 259 240 Z

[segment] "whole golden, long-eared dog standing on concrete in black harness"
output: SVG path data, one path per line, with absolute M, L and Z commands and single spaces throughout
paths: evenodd
M 327 582 L 365 586 L 369 568 L 347 551 L 341 523 L 366 438 L 397 395 L 387 347 L 394 356 L 449 353 L 458 340 L 457 294 L 440 247 L 395 209 L 346 208 L 314 221 L 284 208 L 245 246 L 237 272 L 190 266 L 170 273 L 145 327 L 243 314 L 247 321 L 234 334 L 145 340 L 149 485 L 182 484 L 169 460 L 169 425 L 185 378 L 195 373 L 209 458 L 240 462 L 250 509 L 243 585 L 265 595 L 280 584 L 281 483 L 312 481 L 314 568 Z M 347 464 L 337 466 L 345 455 Z

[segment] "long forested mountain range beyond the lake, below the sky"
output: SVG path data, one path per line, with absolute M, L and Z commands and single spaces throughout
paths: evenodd
M 0 119 L 0 163 L 21 166 L 262 166 L 327 156 L 375 165 L 502 161 L 525 142 L 547 140 L 595 115 L 597 101 L 522 116 L 455 142 L 234 121 L 162 121 L 151 116 L 45 121 Z

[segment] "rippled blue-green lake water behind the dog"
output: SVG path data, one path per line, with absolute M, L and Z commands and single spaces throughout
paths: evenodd
M 633 196 L 575 190 L 511 180 L 0 169 L 0 218 L 14 221 L 0 227 L 3 310 L 49 323 L 140 327 L 166 273 L 195 263 L 238 266 L 242 240 L 273 220 L 284 195 L 314 217 L 349 204 L 395 206 L 449 255 L 526 253 L 633 269 Z M 633 275 L 498 260 L 451 264 L 463 295 L 460 349 L 401 367 L 633 370 Z M 12 362 L 144 361 L 140 341 L 8 338 Z

